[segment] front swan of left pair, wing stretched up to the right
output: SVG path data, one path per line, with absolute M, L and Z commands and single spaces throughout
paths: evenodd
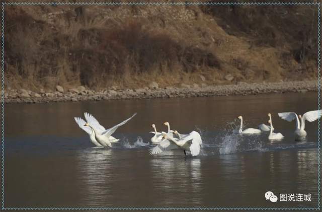
M 97 130 L 95 128 L 95 124 L 92 125 L 90 124 L 89 122 L 85 123 L 84 126 L 89 126 L 93 129 L 94 131 L 94 134 L 95 134 L 95 138 L 97 140 L 97 142 L 104 146 L 104 147 L 112 147 L 112 144 L 113 142 L 111 142 L 111 140 L 109 139 L 111 137 L 111 135 L 115 132 L 115 130 L 119 127 L 119 126 L 122 126 L 123 124 L 125 124 L 126 122 L 128 122 L 131 118 L 133 118 L 134 116 L 136 115 L 136 113 L 134 113 L 130 118 L 122 121 L 121 123 L 109 128 L 109 129 L 106 129 L 105 131 L 101 132 L 99 130 Z

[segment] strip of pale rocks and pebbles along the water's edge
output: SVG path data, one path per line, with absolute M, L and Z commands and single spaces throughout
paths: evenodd
M 173 97 L 205 97 L 205 96 L 230 96 L 230 95 L 256 95 L 268 93 L 308 92 L 317 91 L 317 81 L 293 81 L 277 83 L 253 83 L 239 82 L 235 85 L 207 86 L 181 84 L 180 88 L 159 88 L 152 82 L 142 89 L 119 90 L 116 87 L 93 91 L 79 86 L 64 90 L 56 86 L 56 91 L 39 93 L 25 89 L 5 90 L 5 103 L 49 103 L 66 101 L 100 101 L 112 99 L 145 99 L 145 98 L 173 98 Z

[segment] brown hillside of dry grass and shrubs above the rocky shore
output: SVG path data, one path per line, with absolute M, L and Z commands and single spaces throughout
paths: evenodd
M 5 7 L 11 88 L 316 78 L 316 6 Z

